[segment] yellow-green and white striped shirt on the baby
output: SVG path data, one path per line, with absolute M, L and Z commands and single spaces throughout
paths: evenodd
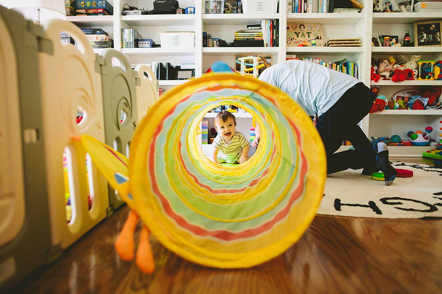
M 218 162 L 235 163 L 240 159 L 243 147 L 248 144 L 249 142 L 243 133 L 235 131 L 229 144 L 225 143 L 224 137 L 218 135 L 213 139 L 212 146 L 219 149 Z

